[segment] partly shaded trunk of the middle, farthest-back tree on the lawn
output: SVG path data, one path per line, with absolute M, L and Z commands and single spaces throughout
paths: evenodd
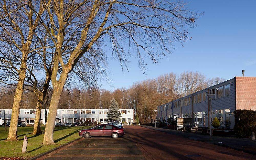
M 40 94 L 38 95 L 38 100 L 36 103 L 36 117 L 35 117 L 35 124 L 34 124 L 34 130 L 32 135 L 42 134 L 41 126 L 40 126 L 42 104 L 43 104 L 43 95 Z

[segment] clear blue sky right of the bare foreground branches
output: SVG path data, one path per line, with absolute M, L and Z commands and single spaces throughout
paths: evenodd
M 192 70 L 211 77 L 231 79 L 256 76 L 256 1 L 185 1 L 187 8 L 204 12 L 189 30 L 192 40 L 155 64 L 147 59 L 146 74 L 138 67 L 137 58 L 129 59 L 129 71 L 124 73 L 115 60 L 108 60 L 112 84 L 102 81 L 101 88 L 129 88 L 134 82 L 155 78 L 160 74 Z M 108 51 L 108 50 L 106 50 Z M 110 52 L 110 51 L 109 51 Z

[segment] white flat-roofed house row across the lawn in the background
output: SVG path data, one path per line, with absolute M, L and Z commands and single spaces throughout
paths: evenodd
M 47 109 L 47 116 L 49 110 Z M 121 120 L 132 124 L 134 122 L 134 109 L 120 109 Z M 27 124 L 35 123 L 36 110 L 20 109 L 19 121 L 25 121 Z M 45 110 L 41 110 L 41 124 L 45 124 Z M 58 109 L 56 116 L 56 123 L 62 122 L 101 122 L 101 124 L 108 123 L 107 118 L 108 109 Z M 4 120 L 10 122 L 12 116 L 11 109 L 0 109 L 0 122 Z

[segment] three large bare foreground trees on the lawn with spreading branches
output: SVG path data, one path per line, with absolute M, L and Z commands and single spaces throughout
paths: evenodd
M 78 79 L 96 86 L 107 77 L 108 58 L 123 69 L 131 56 L 142 70 L 145 58 L 157 62 L 171 52 L 173 42 L 190 39 L 187 30 L 201 13 L 185 6 L 162 0 L 0 0 L 0 82 L 15 87 L 7 141 L 18 140 L 19 109 L 27 91 L 37 97 L 33 134 L 41 134 L 40 111 L 52 86 L 43 144 L 54 144 L 64 86 Z M 112 54 L 104 46 L 111 46 Z

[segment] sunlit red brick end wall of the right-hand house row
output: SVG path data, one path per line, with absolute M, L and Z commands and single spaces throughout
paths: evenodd
M 236 78 L 236 109 L 256 110 L 256 77 Z

